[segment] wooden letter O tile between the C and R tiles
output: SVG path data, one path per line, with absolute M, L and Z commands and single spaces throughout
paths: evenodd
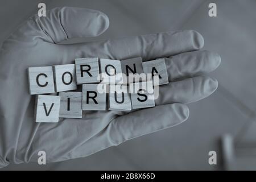
M 55 91 L 76 90 L 75 64 L 54 65 Z

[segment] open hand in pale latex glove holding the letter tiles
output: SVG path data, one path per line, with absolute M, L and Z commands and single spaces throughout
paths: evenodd
M 110 146 L 168 127 L 188 118 L 184 104 L 208 97 L 217 81 L 200 76 L 220 64 L 220 56 L 198 51 L 204 45 L 196 31 L 164 32 L 103 42 L 58 44 L 72 38 L 92 37 L 109 27 L 99 11 L 56 8 L 46 17 L 32 16 L 7 39 L 0 52 L 0 167 L 38 160 L 47 162 L 94 154 Z M 193 51 L 193 52 L 191 52 Z M 87 111 L 82 119 L 36 123 L 35 96 L 28 93 L 28 67 L 70 64 L 78 57 L 143 61 L 166 57 L 171 82 L 159 86 L 156 106 L 131 113 Z M 180 103 L 180 104 L 177 104 Z

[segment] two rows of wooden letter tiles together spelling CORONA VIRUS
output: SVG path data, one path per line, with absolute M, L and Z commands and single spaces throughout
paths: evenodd
M 76 59 L 75 64 L 30 67 L 28 81 L 30 94 L 36 94 L 35 121 L 58 122 L 82 118 L 82 110 L 154 107 L 155 88 L 168 84 L 168 75 L 164 59 L 142 63 L 141 57 L 89 57 Z M 77 85 L 82 85 L 82 92 L 75 92 Z M 49 95 L 55 92 L 58 96 Z

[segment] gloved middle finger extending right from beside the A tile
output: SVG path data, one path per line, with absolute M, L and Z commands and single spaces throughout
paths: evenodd
M 204 75 L 214 71 L 221 63 L 221 57 L 210 51 L 184 52 L 165 58 L 169 81 Z

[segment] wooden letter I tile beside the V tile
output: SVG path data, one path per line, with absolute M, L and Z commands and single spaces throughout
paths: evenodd
M 82 118 L 82 92 L 60 92 L 59 118 Z

